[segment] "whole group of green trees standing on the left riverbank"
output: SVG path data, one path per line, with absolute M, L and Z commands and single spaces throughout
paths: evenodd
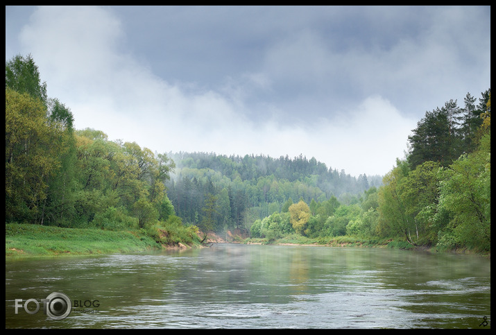
M 31 55 L 6 62 L 6 223 L 157 234 L 155 225 L 193 239 L 166 194 L 173 160 L 73 123 Z

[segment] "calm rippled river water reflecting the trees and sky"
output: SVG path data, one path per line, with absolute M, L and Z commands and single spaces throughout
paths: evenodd
M 71 301 L 62 320 L 44 313 L 54 292 Z M 490 260 L 239 244 L 6 259 L 6 327 L 487 329 Z

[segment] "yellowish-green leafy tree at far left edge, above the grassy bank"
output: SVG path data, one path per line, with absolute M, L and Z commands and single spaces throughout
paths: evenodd
M 49 178 L 66 151 L 46 114 L 39 99 L 6 88 L 6 221 L 42 223 Z

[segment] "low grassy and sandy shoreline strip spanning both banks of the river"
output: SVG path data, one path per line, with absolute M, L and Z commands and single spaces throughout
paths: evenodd
M 62 228 L 30 224 L 6 224 L 6 257 L 43 257 L 60 255 L 100 255 L 144 250 L 200 248 L 202 232 L 196 232 L 198 242 L 164 243 L 163 230 L 158 237 L 151 237 L 144 230 L 110 231 L 99 229 Z M 159 239 L 159 240 L 157 240 Z M 277 240 L 250 239 L 246 234 L 233 231 L 220 236 L 207 234 L 206 243 L 278 244 L 283 246 L 322 246 L 344 248 L 393 248 L 424 252 L 450 252 L 457 255 L 477 254 L 490 258 L 490 253 L 480 254 L 466 248 L 438 250 L 431 246 L 411 246 L 406 241 L 395 239 L 359 239 L 357 237 L 329 237 L 310 239 L 291 234 Z

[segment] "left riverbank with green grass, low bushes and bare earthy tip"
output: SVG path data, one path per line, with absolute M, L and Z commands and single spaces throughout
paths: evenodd
M 162 227 L 148 230 L 100 230 L 45 225 L 6 224 L 6 257 L 53 257 L 62 255 L 103 255 L 144 250 L 186 250 L 203 248 L 205 235 L 189 227 Z M 205 244 L 241 243 L 248 234 L 239 230 L 221 235 L 208 232 Z

